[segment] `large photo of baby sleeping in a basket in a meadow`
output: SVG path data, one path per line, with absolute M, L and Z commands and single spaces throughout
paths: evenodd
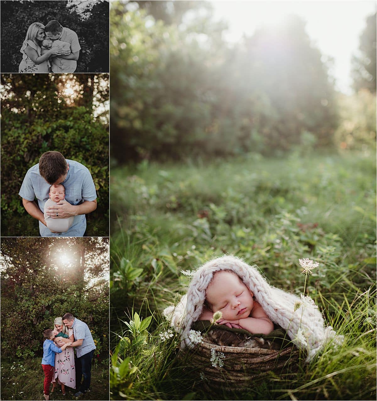
M 110 399 L 375 399 L 375 2 L 114 1 L 110 75 Z

